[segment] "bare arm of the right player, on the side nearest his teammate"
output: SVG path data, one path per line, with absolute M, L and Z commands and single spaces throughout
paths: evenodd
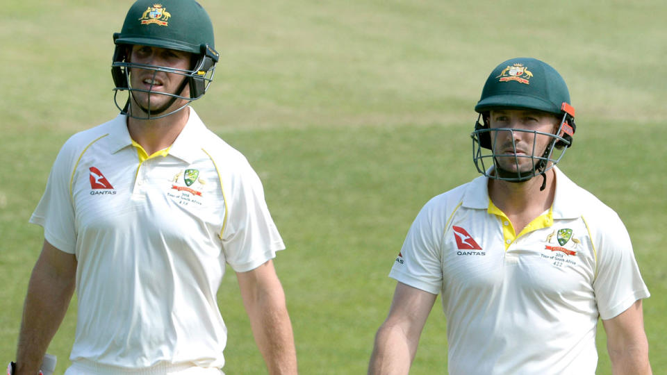
M 436 297 L 397 283 L 389 315 L 375 335 L 369 375 L 408 374 Z

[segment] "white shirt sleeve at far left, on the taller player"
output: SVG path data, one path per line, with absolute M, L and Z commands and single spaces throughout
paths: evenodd
M 74 208 L 69 194 L 74 150 L 66 142 L 51 167 L 42 199 L 30 218 L 32 224 L 44 228 L 44 239 L 56 249 L 73 254 L 76 249 Z

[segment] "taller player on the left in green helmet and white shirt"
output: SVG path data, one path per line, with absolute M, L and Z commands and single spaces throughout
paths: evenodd
M 295 374 L 272 263 L 285 246 L 262 183 L 189 106 L 219 60 L 211 19 L 193 0 L 138 0 L 113 41 L 121 113 L 72 136 L 53 164 L 31 217 L 44 244 L 12 370 L 37 373 L 76 291 L 65 374 L 221 374 L 229 265 L 268 371 Z

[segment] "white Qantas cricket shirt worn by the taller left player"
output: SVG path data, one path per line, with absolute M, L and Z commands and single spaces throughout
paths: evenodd
M 174 144 L 150 157 L 124 115 L 58 153 L 31 222 L 79 262 L 73 361 L 222 367 L 225 263 L 245 272 L 284 249 L 257 174 L 186 110 Z

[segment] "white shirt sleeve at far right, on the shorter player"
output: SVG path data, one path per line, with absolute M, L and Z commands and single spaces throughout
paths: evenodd
M 598 233 L 598 272 L 593 282 L 602 319 L 611 319 L 638 299 L 650 297 L 634 258 L 627 229 L 613 215 Z

